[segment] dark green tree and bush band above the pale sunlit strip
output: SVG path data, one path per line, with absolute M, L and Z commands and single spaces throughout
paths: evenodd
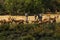
M 0 15 L 29 15 L 60 12 L 60 0 L 1 0 Z

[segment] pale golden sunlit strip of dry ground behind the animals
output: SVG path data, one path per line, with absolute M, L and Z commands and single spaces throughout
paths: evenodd
M 57 16 L 57 14 L 51 14 L 50 15 L 50 17 L 55 17 L 55 16 Z M 0 20 L 3 20 L 3 19 L 5 19 L 5 20 L 8 20 L 8 18 L 9 17 L 11 17 L 11 18 L 15 18 L 16 20 L 20 20 L 20 19 L 22 19 L 22 20 L 24 20 L 24 21 L 26 21 L 26 17 L 25 16 L 10 16 L 10 15 L 3 15 L 3 16 L 0 16 Z M 38 18 L 38 17 L 37 17 Z M 47 15 L 47 14 L 44 14 L 43 15 L 43 19 L 44 18 L 49 18 L 49 15 Z M 43 20 L 42 19 L 42 20 Z M 35 18 L 34 18 L 34 16 L 28 16 L 28 20 L 29 21 L 34 21 L 35 20 Z M 59 15 L 59 17 L 56 19 L 57 20 L 57 22 L 60 22 L 60 15 Z

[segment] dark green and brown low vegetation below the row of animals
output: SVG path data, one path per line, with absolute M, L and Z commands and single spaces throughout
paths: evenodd
M 2 24 L 0 40 L 60 40 L 60 23 Z

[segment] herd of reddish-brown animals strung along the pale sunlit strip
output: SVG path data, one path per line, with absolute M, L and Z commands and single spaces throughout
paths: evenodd
M 47 22 L 56 22 L 56 18 L 58 18 L 59 16 L 57 16 L 57 17 L 45 17 L 45 16 L 43 16 L 43 18 L 42 18 L 42 22 L 41 21 L 39 21 L 39 20 L 31 20 L 31 23 L 47 23 Z M 29 20 L 28 20 L 29 21 Z M 1 19 L 0 18 L 0 23 L 2 24 L 2 23 L 19 23 L 19 24 L 24 24 L 24 23 L 26 23 L 26 21 L 25 20 L 23 20 L 23 19 L 18 19 L 18 20 L 16 20 L 16 18 L 13 18 L 13 17 L 8 17 L 7 19 Z M 28 22 L 29 23 L 29 22 Z

